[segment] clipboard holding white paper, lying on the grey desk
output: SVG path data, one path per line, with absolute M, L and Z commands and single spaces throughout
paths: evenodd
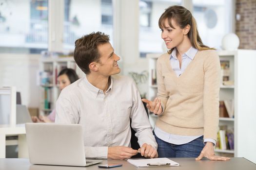
M 168 158 L 128 159 L 127 162 L 138 168 L 179 166 L 179 163 Z

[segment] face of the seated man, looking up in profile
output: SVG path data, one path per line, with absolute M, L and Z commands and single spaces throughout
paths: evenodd
M 105 43 L 98 45 L 98 51 L 100 53 L 98 73 L 103 76 L 118 74 L 120 72 L 120 68 L 118 67 L 120 57 L 114 53 L 111 44 Z

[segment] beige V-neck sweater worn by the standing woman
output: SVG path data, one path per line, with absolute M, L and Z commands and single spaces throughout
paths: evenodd
M 217 138 L 220 62 L 214 50 L 198 51 L 179 76 L 171 68 L 170 54 L 157 61 L 158 98 L 163 113 L 156 126 L 181 136 Z

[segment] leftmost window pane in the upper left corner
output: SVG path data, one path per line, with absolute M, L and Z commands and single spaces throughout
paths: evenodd
M 0 39 L 0 52 L 46 50 L 48 0 L 1 0 Z

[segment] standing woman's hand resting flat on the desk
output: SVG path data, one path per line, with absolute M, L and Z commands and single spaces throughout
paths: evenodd
M 214 144 L 212 142 L 206 142 L 203 150 L 201 151 L 200 155 L 196 158 L 196 160 L 201 160 L 203 157 L 207 157 L 208 159 L 215 161 L 230 160 L 229 157 L 216 156 L 214 153 Z

